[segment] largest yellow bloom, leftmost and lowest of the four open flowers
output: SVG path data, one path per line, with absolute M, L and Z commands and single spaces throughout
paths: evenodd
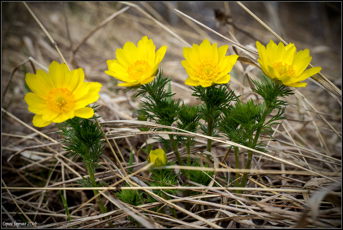
M 66 64 L 53 61 L 49 74 L 37 70 L 26 73 L 25 81 L 33 93 L 25 95 L 28 110 L 36 113 L 33 125 L 44 127 L 51 122 L 60 123 L 70 118 L 91 118 L 94 115 L 88 104 L 99 99 L 102 85 L 98 82 L 84 82 L 81 68 L 69 71 Z

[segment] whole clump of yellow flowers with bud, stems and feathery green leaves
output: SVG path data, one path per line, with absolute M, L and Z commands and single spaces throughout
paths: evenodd
M 176 162 L 180 166 L 185 165 L 178 150 L 180 143 L 186 147 L 186 165 L 197 168 L 203 166 L 202 159 L 193 159 L 191 162 L 190 148 L 193 145 L 193 139 L 182 133 L 185 131 L 196 132 L 201 129 L 209 137 L 216 137 L 220 131 L 229 140 L 248 147 L 246 170 L 250 168 L 253 159 L 251 149 L 268 152 L 263 148 L 266 144 L 259 140 L 259 136 L 267 133 L 273 138 L 272 126 L 281 124 L 279 121 L 286 119 L 283 114 L 287 103 L 280 98 L 293 94 L 287 86 L 305 87 L 307 83 L 300 81 L 318 73 L 321 68 L 313 67 L 306 70 L 311 61 L 309 50 L 304 49 L 297 53 L 294 44 L 284 46 L 281 42 L 276 45 L 270 41 L 267 47 L 264 47 L 257 41 L 256 46 L 259 53 L 258 62 L 265 74 L 264 82 L 252 80 L 256 85 L 255 88 L 251 88 L 252 92 L 259 94 L 264 100 L 263 103 L 258 104 L 253 99 L 248 102 L 238 100 L 239 96 L 229 88 L 227 84 L 231 78 L 229 73 L 238 55 L 226 56 L 228 45 L 217 48 L 217 43 L 211 45 L 207 39 L 204 39 L 200 45 L 193 44 L 192 48 L 184 47 L 185 60 L 182 60 L 181 64 L 188 74 L 185 84 L 190 85 L 190 89 L 194 91 L 192 96 L 201 101 L 199 105 L 193 106 L 184 103 L 180 105 L 180 99 L 178 101 L 172 99 L 175 93 L 171 93 L 170 88 L 166 90 L 166 85 L 171 79 L 162 76 L 162 69 L 158 73 L 159 64 L 166 53 L 166 45 L 155 52 L 156 47 L 152 39 L 144 36 L 138 41 L 137 46 L 132 42 L 127 42 L 122 49 L 117 49 L 116 59 L 107 60 L 108 70 L 105 73 L 122 81 L 118 84 L 119 86 L 128 87 L 128 90 L 140 88 L 137 96 L 140 95 L 146 100 L 142 101 L 142 108 L 137 110 L 138 114 L 145 120 L 149 118 L 159 125 L 164 125 L 157 130 L 168 132 L 169 139 L 157 136 L 160 144 L 163 143 L 163 148 L 173 148 L 177 161 L 168 161 L 163 149 L 151 150 L 153 145 L 147 147 L 146 153 L 151 150 L 147 162 L 152 163 L 151 168 L 148 169 L 151 177 L 151 180 L 147 182 L 149 186 L 177 186 L 180 182 L 183 182 L 184 186 L 192 183 L 213 185 L 213 180 L 217 176 L 213 170 L 190 170 L 187 167 L 187 170 L 181 168 L 179 173 L 174 172 L 172 166 Z M 84 187 L 102 187 L 107 183 L 97 182 L 94 173 L 95 169 L 100 166 L 100 157 L 105 149 L 102 140 L 105 134 L 101 126 L 98 126 L 99 123 L 91 120 L 98 118 L 94 116 L 96 105 L 87 107 L 99 99 L 102 85 L 98 82 L 84 82 L 84 77 L 81 68 L 70 71 L 66 64 L 53 61 L 48 73 L 38 70 L 36 74 L 26 74 L 25 80 L 32 92 L 25 95 L 25 101 L 28 104 L 28 110 L 36 114 L 33 117 L 34 126 L 44 127 L 52 122 L 61 123 L 58 124 L 61 130 L 59 133 L 65 139 L 63 142 L 68 143 L 63 148 L 70 151 L 69 157 L 80 156 L 89 174 L 87 177 L 82 176 L 83 180 L 78 180 L 77 183 Z M 233 104 L 233 102 L 236 103 Z M 272 116 L 273 111 L 276 111 L 276 114 Z M 200 119 L 205 122 L 200 123 Z M 170 126 L 175 122 L 178 129 L 171 132 Z M 210 157 L 213 156 L 211 148 L 212 138 L 208 138 L 204 152 L 207 155 L 204 159 L 207 161 L 204 164 L 205 168 L 209 167 Z M 239 149 L 236 146 L 229 148 L 234 148 L 235 151 L 235 186 L 244 187 L 248 172 L 244 172 L 240 179 Z M 132 156 L 131 151 L 130 166 L 132 166 Z M 181 181 L 178 181 L 178 178 Z M 126 187 L 128 186 L 126 184 Z M 181 192 L 180 189 L 164 189 L 163 191 L 154 189 L 153 194 L 150 192 L 145 194 L 123 189 L 116 194 L 122 202 L 138 206 L 143 199 L 144 202 L 154 203 L 157 202 L 156 196 L 171 199 L 179 192 Z M 242 192 L 243 190 L 236 190 L 236 193 Z M 94 189 L 93 193 L 100 210 L 103 214 L 106 213 L 107 209 L 97 189 Z M 189 190 L 184 192 L 185 197 L 190 195 Z M 190 210 L 189 203 L 185 204 L 185 209 Z M 163 213 L 164 205 L 155 207 L 154 211 Z M 177 218 L 175 210 L 174 214 Z M 133 221 L 139 228 L 139 222 L 133 217 L 128 217 L 128 220 Z M 111 222 L 109 226 L 114 228 Z

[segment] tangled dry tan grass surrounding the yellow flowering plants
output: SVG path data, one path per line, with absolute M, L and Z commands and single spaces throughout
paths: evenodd
M 140 150 L 145 138 L 153 132 L 133 135 L 142 123 L 135 111 L 140 107 L 134 92 L 125 93 L 117 80 L 104 73 L 106 60 L 115 59 L 115 51 L 127 41 L 137 43 L 147 35 L 157 48 L 167 45 L 161 62 L 164 75 L 171 81 L 175 97 L 185 103 L 199 103 L 191 97 L 184 84 L 187 77 L 181 60 L 182 48 L 200 44 L 208 38 L 218 47 L 229 45 L 229 53 L 241 59 L 232 73 L 230 87 L 244 101 L 252 97 L 251 79 L 261 78 L 254 65 L 257 55 L 232 45 L 225 39 L 194 23 L 179 11 L 209 26 L 217 33 L 256 50 L 255 42 L 277 41 L 265 27 L 235 2 L 28 2 L 40 22 L 57 43 L 61 54 L 72 69 L 83 68 L 87 81 L 103 84 L 97 101 L 99 121 L 110 137 L 110 145 L 118 154 L 114 160 L 109 146 L 96 177 L 111 184 L 121 180 L 118 165 L 127 166 L 133 149 L 133 171 L 141 181 L 149 179 L 146 153 Z M 287 43 L 298 50 L 308 48 L 311 64 L 322 67 L 327 80 L 308 79 L 306 88 L 295 90 L 286 100 L 288 119 L 274 127 L 274 139 L 264 138 L 270 154 L 254 154 L 249 184 L 244 194 L 235 194 L 231 186 L 222 187 L 223 178 L 234 177 L 234 154 L 227 151 L 225 140 L 215 139 L 213 147 L 214 181 L 216 187 L 191 187 L 204 191 L 184 197 L 179 194 L 163 201 L 177 210 L 174 218 L 169 209 L 166 215 L 150 208 L 161 202 L 132 207 L 121 203 L 115 189 L 101 190 L 107 214 L 101 214 L 92 191 L 75 184 L 87 175 L 82 162 L 68 159 L 61 148 L 61 137 L 51 124 L 36 129 L 33 114 L 27 110 L 24 96 L 26 72 L 46 70 L 52 60 L 62 62 L 44 31 L 21 2 L 2 2 L 2 225 L 27 223 L 26 228 L 101 228 L 113 222 L 116 228 L 130 228 L 127 216 L 135 218 L 144 228 L 341 228 L 341 3 L 310 2 L 248 2 L 244 5 Z M 215 18 L 217 10 L 217 18 Z M 332 84 L 330 84 L 332 82 Z M 154 127 L 153 123 L 144 123 Z M 192 148 L 194 158 L 206 149 L 206 138 L 196 137 Z M 181 156 L 185 149 L 180 148 Z M 241 162 L 247 150 L 240 148 Z M 175 158 L 173 153 L 168 159 Z M 115 161 L 116 164 L 111 164 Z M 175 167 L 175 170 L 178 170 Z M 136 179 L 137 180 L 137 179 Z M 133 180 L 134 181 L 134 180 Z M 135 181 L 134 181 L 135 182 Z M 136 182 L 137 183 L 137 182 Z M 215 182 L 214 182 L 215 183 Z M 133 187 L 144 185 L 137 184 Z M 71 220 L 63 207 L 59 190 L 67 199 Z M 184 209 L 190 202 L 192 209 Z M 195 205 L 198 204 L 198 205 Z M 104 219 L 109 216 L 109 219 Z M 158 217 L 158 218 L 157 218 Z M 3 225 L 4 227 L 4 225 Z

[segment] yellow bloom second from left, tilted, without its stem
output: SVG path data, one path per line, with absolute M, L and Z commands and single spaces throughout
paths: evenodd
M 138 41 L 137 47 L 132 42 L 127 42 L 122 49 L 117 49 L 118 60 L 107 60 L 108 70 L 105 73 L 124 82 L 118 84 L 119 86 L 139 88 L 154 80 L 166 50 L 167 45 L 155 53 L 152 39 L 148 40 L 146 36 Z

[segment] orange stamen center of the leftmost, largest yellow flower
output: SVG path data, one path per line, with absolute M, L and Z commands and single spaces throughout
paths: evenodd
M 74 99 L 67 88 L 61 87 L 50 90 L 46 103 L 50 110 L 60 113 L 66 111 L 74 103 Z

